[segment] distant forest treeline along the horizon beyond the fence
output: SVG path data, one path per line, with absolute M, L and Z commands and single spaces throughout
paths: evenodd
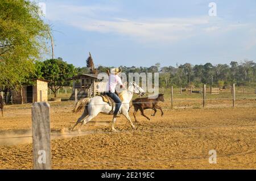
M 230 64 L 192 65 L 189 63 L 174 66 L 160 66 L 160 63 L 146 67 L 121 66 L 124 73 L 159 73 L 159 86 L 256 86 L 256 64 L 254 61 L 231 61 Z M 110 67 L 98 66 L 97 72 L 106 72 Z M 94 70 L 95 71 L 95 70 Z M 90 73 L 88 67 L 77 68 L 78 73 Z

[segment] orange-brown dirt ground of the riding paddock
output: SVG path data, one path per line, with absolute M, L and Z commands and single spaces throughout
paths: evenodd
M 98 115 L 81 134 L 68 131 L 81 115 L 71 112 L 73 103 L 51 103 L 52 168 L 256 169 L 256 104 L 241 102 L 201 108 L 180 100 L 175 110 L 162 103 L 163 117 L 138 113 L 133 130 L 122 116 L 118 132 L 109 131 L 111 116 Z M 31 105 L 7 106 L 0 123 L 0 169 L 32 169 Z M 209 150 L 217 151 L 217 164 L 209 163 Z

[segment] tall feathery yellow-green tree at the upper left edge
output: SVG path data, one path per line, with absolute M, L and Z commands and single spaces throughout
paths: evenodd
M 35 3 L 0 1 L 0 85 L 17 90 L 26 82 L 34 71 L 35 58 L 46 50 L 48 32 Z

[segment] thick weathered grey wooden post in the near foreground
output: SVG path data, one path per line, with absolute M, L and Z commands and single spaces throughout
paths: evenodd
M 51 129 L 49 104 L 32 105 L 33 169 L 51 170 Z

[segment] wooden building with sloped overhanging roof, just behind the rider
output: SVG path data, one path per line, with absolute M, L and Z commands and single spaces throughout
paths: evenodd
M 67 79 L 73 81 L 73 93 L 71 100 L 75 99 L 75 90 L 77 89 L 77 99 L 91 98 L 100 95 L 105 91 L 106 82 L 98 79 L 98 74 L 79 74 Z

